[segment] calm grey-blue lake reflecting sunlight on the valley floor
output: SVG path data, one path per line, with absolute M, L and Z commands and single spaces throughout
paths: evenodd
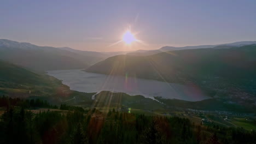
M 86 73 L 82 70 L 51 70 L 48 75 L 54 76 L 74 91 L 79 92 L 124 92 L 129 95 L 143 95 L 147 98 L 163 97 L 199 101 L 207 99 L 200 88 L 135 77 Z

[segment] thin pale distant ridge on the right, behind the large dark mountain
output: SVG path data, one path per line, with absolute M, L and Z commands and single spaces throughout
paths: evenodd
M 134 52 L 127 53 L 127 55 L 149 56 L 149 55 L 154 55 L 160 52 L 175 51 L 175 50 L 203 49 L 203 48 L 214 48 L 214 47 L 216 47 L 216 49 L 226 49 L 230 47 L 239 47 L 239 46 L 252 45 L 252 44 L 256 44 L 256 41 L 238 41 L 238 42 L 229 43 L 229 44 L 183 46 L 183 47 L 164 46 L 158 50 L 137 50 Z

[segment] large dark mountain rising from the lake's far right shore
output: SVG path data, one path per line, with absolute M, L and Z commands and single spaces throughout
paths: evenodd
M 210 97 L 255 105 L 255 56 L 256 45 L 168 51 L 150 56 L 119 55 L 85 71 L 183 83 L 200 88 Z

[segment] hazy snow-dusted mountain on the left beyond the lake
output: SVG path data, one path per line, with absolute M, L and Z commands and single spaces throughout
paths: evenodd
M 56 47 L 0 39 L 0 59 L 28 69 L 44 71 L 84 69 L 104 58 L 61 50 Z

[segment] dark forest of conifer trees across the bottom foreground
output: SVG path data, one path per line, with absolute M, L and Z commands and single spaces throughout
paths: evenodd
M 179 117 L 85 112 L 74 107 L 68 112 L 32 113 L 8 106 L 0 120 L 0 143 L 256 143 L 256 133 L 204 127 Z

